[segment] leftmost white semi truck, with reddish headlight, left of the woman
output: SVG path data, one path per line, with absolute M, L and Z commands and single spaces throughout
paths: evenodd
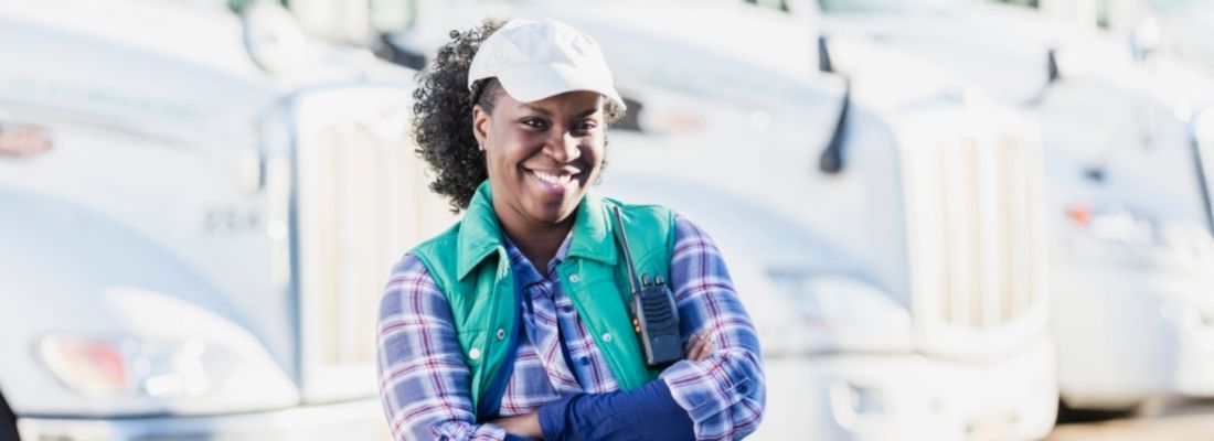
M 410 70 L 272 8 L 73 0 L 0 6 L 0 439 L 386 434 L 382 281 L 449 222 Z

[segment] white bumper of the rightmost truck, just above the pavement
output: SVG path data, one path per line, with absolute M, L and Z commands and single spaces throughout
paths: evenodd
M 1059 384 L 1070 406 L 1214 396 L 1209 268 L 1072 265 L 1054 275 Z

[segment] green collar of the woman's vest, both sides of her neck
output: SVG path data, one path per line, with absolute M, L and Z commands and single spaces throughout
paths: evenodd
M 615 264 L 615 242 L 607 207 L 602 197 L 594 191 L 586 191 L 578 205 L 577 218 L 573 220 L 573 240 L 569 244 L 568 257 L 583 257 L 600 260 L 608 265 Z M 469 202 L 459 229 L 459 279 L 464 279 L 482 260 L 503 248 L 501 225 L 493 211 L 493 194 L 489 182 L 481 183 Z M 607 245 L 609 244 L 609 245 Z M 501 254 L 505 258 L 505 254 Z

